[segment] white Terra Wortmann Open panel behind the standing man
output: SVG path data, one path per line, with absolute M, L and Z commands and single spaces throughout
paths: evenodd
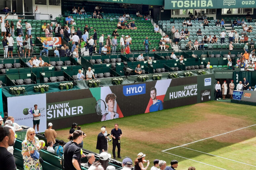
M 33 127 L 34 105 L 40 110 L 39 132 L 44 132 L 46 126 L 46 94 L 28 95 L 7 98 L 8 115 L 14 117 L 14 122 L 18 125 Z M 36 128 L 37 130 L 37 128 Z

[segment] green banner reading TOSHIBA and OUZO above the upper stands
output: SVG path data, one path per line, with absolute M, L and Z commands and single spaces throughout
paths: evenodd
M 165 0 L 164 9 L 255 8 L 254 0 Z

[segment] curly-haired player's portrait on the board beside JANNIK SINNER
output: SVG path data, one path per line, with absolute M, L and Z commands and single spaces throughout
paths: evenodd
M 105 101 L 106 101 L 106 105 L 108 107 L 108 110 L 107 110 L 106 113 L 104 113 L 102 115 L 101 121 L 106 121 L 106 120 L 119 118 L 119 114 L 116 111 L 114 111 L 115 99 L 116 99 L 116 96 L 115 96 L 114 93 L 110 93 L 106 96 Z

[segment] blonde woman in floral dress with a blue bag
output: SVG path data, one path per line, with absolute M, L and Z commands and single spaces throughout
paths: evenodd
M 36 151 L 40 151 L 43 147 L 43 143 L 39 142 L 39 139 L 35 136 L 35 130 L 30 127 L 26 132 L 26 139 L 22 142 L 22 156 L 24 159 L 24 170 L 42 170 L 42 165 L 39 159 L 34 160 L 30 154 Z

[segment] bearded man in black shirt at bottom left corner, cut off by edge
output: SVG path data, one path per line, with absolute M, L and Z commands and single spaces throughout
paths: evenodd
M 0 169 L 16 170 L 14 156 L 7 150 L 8 147 L 14 146 L 14 134 L 10 127 L 0 126 Z

